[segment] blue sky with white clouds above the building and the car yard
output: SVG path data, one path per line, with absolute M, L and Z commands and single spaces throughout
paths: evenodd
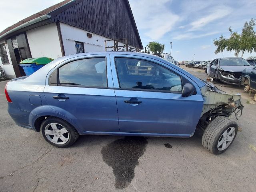
M 61 0 L 0 0 L 0 31 Z M 214 54 L 213 40 L 241 32 L 244 22 L 256 18 L 256 0 L 129 0 L 145 47 L 150 41 L 165 45 L 175 60 L 213 60 L 234 56 Z M 256 56 L 245 53 L 243 58 Z

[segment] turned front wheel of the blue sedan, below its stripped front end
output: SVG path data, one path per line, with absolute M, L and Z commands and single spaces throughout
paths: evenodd
M 238 125 L 234 120 L 218 116 L 207 126 L 202 136 L 204 148 L 213 154 L 226 151 L 236 138 Z

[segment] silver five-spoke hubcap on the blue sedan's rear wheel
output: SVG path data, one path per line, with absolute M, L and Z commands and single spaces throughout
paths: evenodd
M 44 129 L 46 138 L 55 144 L 65 144 L 69 140 L 69 133 L 64 126 L 58 123 L 50 123 Z

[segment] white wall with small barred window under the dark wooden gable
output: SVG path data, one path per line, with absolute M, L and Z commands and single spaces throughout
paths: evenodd
M 84 52 L 102 52 L 105 51 L 105 40 L 111 40 L 104 36 L 88 32 L 86 30 L 60 23 L 65 55 L 76 54 L 75 41 L 84 43 Z M 92 38 L 87 37 L 87 33 L 92 34 Z M 124 45 L 124 44 L 123 44 Z M 113 42 L 108 42 L 107 46 L 113 46 Z M 107 51 L 111 51 L 108 48 Z

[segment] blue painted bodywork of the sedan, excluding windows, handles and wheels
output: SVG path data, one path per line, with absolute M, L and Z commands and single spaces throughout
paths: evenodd
M 50 74 L 68 62 L 106 57 L 108 88 L 49 85 Z M 148 90 L 122 90 L 118 84 L 114 58 L 131 57 L 158 63 L 184 77 L 196 88 L 196 95 Z M 56 116 L 72 124 L 79 134 L 126 136 L 189 137 L 196 128 L 203 106 L 200 88 L 205 83 L 178 66 L 150 54 L 134 52 L 100 52 L 58 58 L 26 78 L 8 83 L 13 103 L 8 112 L 19 126 L 36 130 L 40 116 Z M 58 100 L 53 96 L 66 96 Z M 140 100 L 128 104 L 124 100 Z

